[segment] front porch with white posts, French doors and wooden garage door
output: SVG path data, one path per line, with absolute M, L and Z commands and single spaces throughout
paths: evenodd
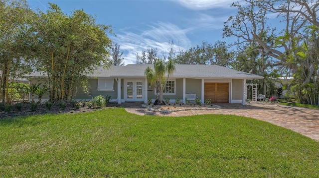
M 155 87 L 149 85 L 146 78 L 117 78 L 117 102 L 144 102 L 151 98 L 155 102 L 157 93 Z M 169 87 L 163 93 L 163 98 L 170 98 L 170 103 L 179 99 L 186 103 L 186 94 L 192 93 L 205 103 L 211 99 L 212 103 L 246 104 L 245 79 L 212 79 L 212 78 L 171 78 Z M 113 100 L 114 101 L 114 100 Z

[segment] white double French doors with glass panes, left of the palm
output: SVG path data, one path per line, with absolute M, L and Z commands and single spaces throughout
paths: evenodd
M 126 101 L 144 101 L 144 81 L 143 80 L 125 80 L 125 100 Z

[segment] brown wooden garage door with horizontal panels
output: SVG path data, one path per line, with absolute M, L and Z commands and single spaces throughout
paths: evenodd
M 204 98 L 209 98 L 212 103 L 228 103 L 229 83 L 205 83 Z

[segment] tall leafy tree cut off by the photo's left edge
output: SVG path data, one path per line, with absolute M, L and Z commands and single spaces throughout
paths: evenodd
M 25 0 L 0 1 L 0 93 L 10 102 L 9 82 L 30 72 L 30 24 L 33 11 Z M 13 86 L 13 85 L 12 85 Z

